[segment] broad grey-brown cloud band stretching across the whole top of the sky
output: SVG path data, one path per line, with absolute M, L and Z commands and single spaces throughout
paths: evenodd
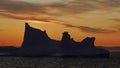
M 37 2 L 33 3 L 33 2 Z M 27 14 L 71 14 L 120 7 L 120 0 L 1 0 L 0 10 Z M 55 10 L 58 13 L 54 12 Z

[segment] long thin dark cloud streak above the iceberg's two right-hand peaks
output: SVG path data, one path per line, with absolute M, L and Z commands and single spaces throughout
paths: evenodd
M 70 25 L 70 24 L 63 24 L 66 27 L 72 27 L 72 28 L 78 28 L 83 32 L 87 32 L 87 33 L 115 33 L 117 31 L 115 30 L 109 30 L 109 29 L 102 29 L 102 28 L 92 28 L 92 27 L 88 27 L 88 26 L 74 26 L 74 25 Z

